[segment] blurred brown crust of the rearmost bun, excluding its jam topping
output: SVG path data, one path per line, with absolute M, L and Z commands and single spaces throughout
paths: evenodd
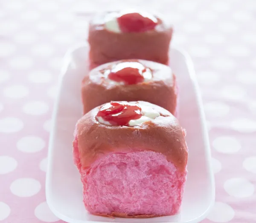
M 89 57 L 93 67 L 111 61 L 134 58 L 168 64 L 172 27 L 158 18 L 160 24 L 153 30 L 117 33 L 105 28 L 103 18 L 106 13 L 98 14 L 89 25 Z

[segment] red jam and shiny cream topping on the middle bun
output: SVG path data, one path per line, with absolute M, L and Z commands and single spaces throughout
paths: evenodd
M 147 69 L 139 62 L 122 62 L 116 64 L 108 74 L 108 78 L 125 84 L 137 84 L 144 81 L 143 73 Z

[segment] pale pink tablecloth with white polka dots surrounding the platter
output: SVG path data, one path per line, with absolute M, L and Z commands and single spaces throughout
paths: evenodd
M 195 63 L 216 201 L 203 223 L 256 222 L 255 0 L 8 0 L 0 2 L 0 222 L 63 222 L 45 198 L 47 147 L 64 53 L 99 10 L 160 11 L 172 45 Z

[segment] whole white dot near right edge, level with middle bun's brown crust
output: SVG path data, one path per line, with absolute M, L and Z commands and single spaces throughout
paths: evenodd
M 241 100 L 246 95 L 246 91 L 240 86 L 230 85 L 225 86 L 221 90 L 221 94 L 228 100 Z

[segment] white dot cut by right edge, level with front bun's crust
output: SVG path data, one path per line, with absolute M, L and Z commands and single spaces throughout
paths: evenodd
M 231 127 L 238 132 L 256 132 L 256 122 L 247 118 L 233 120 Z

